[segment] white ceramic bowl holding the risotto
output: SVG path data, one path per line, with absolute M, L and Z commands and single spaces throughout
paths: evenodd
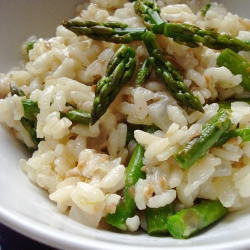
M 30 35 L 51 37 L 63 19 L 74 16 L 78 0 L 0 3 L 0 72 L 20 59 L 20 44 Z M 249 16 L 249 0 L 219 1 Z M 42 243 L 60 249 L 250 249 L 250 208 L 231 213 L 206 232 L 187 240 L 124 234 L 88 228 L 56 210 L 46 191 L 32 184 L 19 167 L 24 147 L 0 125 L 0 221 Z

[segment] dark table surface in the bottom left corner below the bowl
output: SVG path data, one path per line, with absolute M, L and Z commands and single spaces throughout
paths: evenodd
M 0 223 L 0 250 L 56 250 L 29 239 Z

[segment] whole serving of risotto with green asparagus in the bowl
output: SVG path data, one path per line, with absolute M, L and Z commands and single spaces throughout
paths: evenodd
M 84 225 L 183 239 L 250 205 L 250 21 L 170 2 L 85 2 L 0 74 L 22 170 Z

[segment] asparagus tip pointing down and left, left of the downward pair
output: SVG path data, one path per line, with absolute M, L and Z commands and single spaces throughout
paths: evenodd
M 108 63 L 105 76 L 97 83 L 91 111 L 91 123 L 96 123 L 107 111 L 121 88 L 131 79 L 136 67 L 135 51 L 122 45 Z

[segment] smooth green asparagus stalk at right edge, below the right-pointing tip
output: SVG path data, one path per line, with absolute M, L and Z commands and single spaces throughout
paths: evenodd
M 225 49 L 217 58 L 217 65 L 228 68 L 234 75 L 242 75 L 241 85 L 250 91 L 250 63 L 231 49 Z

